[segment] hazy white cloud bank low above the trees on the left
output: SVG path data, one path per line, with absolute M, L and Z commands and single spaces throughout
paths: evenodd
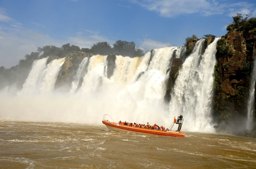
M 28 30 L 16 24 L 15 27 L 0 27 L 0 67 L 10 68 L 16 66 L 19 60 L 25 59 L 26 54 L 36 52 L 37 47 L 54 45 L 61 47 L 64 44 L 90 48 L 93 43 L 111 42 L 107 37 L 99 36 L 98 32 L 86 30 L 78 32 L 76 37 L 68 39 L 53 39 L 48 35 Z M 90 33 L 89 33 L 90 32 Z

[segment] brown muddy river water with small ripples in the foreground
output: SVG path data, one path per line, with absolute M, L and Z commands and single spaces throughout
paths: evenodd
M 0 168 L 255 168 L 256 139 L 109 131 L 105 125 L 0 122 Z

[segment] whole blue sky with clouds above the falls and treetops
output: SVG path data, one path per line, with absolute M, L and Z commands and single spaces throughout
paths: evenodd
M 143 50 L 183 46 L 188 36 L 223 36 L 236 13 L 256 17 L 255 0 L 0 0 L 0 67 L 37 47 L 135 42 Z

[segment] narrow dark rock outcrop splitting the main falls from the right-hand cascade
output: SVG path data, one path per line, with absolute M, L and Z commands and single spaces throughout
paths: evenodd
M 171 92 L 174 88 L 174 82 L 177 78 L 177 75 L 180 70 L 180 66 L 182 65 L 182 59 L 180 58 L 175 58 L 172 60 L 172 68 L 171 70 L 168 69 L 167 73 L 169 73 L 169 79 L 165 82 L 165 86 L 167 88 L 165 95 L 164 95 L 164 101 L 166 103 L 170 102 L 171 100 Z

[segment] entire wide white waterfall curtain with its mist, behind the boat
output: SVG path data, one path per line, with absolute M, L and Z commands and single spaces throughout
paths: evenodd
M 0 93 L 0 118 L 101 124 L 103 114 L 109 114 L 116 121 L 157 123 L 167 128 L 174 116 L 183 114 L 183 130 L 213 132 L 211 101 L 217 40 L 203 53 L 205 40 L 199 40 L 186 59 L 185 47 L 154 49 L 140 58 L 116 56 L 110 78 L 107 56 L 84 58 L 69 92 L 54 90 L 65 58 L 47 65 L 48 58 L 36 60 L 20 91 L 15 95 Z M 167 69 L 174 58 L 184 63 L 171 102 L 166 105 Z

